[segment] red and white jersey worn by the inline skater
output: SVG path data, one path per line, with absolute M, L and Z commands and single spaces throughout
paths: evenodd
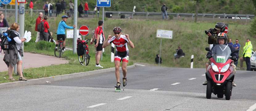
M 128 51 L 128 47 L 127 47 L 128 42 L 129 41 L 125 35 L 120 35 L 118 39 L 114 36 L 108 41 L 108 43 L 114 43 L 116 46 L 116 50 L 119 52 Z

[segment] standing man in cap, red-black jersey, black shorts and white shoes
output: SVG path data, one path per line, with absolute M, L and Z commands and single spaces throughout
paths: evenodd
M 90 44 L 95 44 L 94 47 L 96 47 L 96 54 L 95 54 L 95 60 L 96 60 L 96 65 L 95 67 L 100 67 L 100 68 L 103 68 L 99 62 L 100 62 L 100 59 L 101 59 L 101 53 L 102 53 L 102 45 L 104 43 L 104 40 L 105 40 L 105 36 L 104 36 L 104 33 L 103 33 L 103 30 L 102 30 L 102 26 L 103 26 L 103 20 L 99 20 L 98 22 L 98 27 L 95 29 L 95 36 L 93 36 L 93 39 L 92 41 L 90 42 Z M 96 39 L 96 40 L 95 40 Z M 95 40 L 95 41 L 94 41 Z

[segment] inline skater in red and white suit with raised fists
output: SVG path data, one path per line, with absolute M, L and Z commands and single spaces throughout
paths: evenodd
M 115 27 L 113 29 L 114 32 L 114 36 L 112 37 L 111 35 L 108 36 L 108 40 L 106 40 L 103 43 L 103 48 L 107 47 L 108 45 L 110 45 L 111 43 L 114 43 L 114 45 L 116 46 L 116 52 L 115 52 L 115 59 L 114 59 L 114 63 L 115 63 L 115 75 L 116 75 L 116 79 L 117 79 L 117 84 L 115 85 L 115 92 L 120 92 L 120 74 L 119 74 L 119 66 L 121 61 L 122 63 L 122 71 L 123 71 L 123 87 L 126 86 L 127 84 L 127 79 L 126 79 L 126 74 L 127 74 L 127 64 L 128 64 L 128 60 L 129 60 L 129 50 L 127 47 L 127 44 L 131 47 L 134 48 L 134 44 L 132 43 L 132 41 L 129 38 L 129 35 L 121 35 L 121 28 L 120 27 Z

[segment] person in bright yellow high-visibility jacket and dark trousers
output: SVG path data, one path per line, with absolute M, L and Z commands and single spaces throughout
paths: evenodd
M 252 56 L 252 50 L 253 50 L 253 47 L 252 47 L 252 44 L 251 44 L 251 41 L 250 39 L 246 39 L 246 43 L 245 43 L 245 46 L 243 47 L 243 57 L 240 58 L 240 67 L 242 68 L 243 67 L 243 61 L 246 62 L 246 71 L 250 71 L 251 70 L 251 61 L 250 61 L 250 58 Z

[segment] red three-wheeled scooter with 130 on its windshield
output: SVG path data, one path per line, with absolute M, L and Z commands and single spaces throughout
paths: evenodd
M 211 51 L 209 47 L 205 48 L 206 51 Z M 238 52 L 235 50 L 232 53 Z M 206 98 L 211 99 L 212 93 L 217 94 L 218 98 L 223 98 L 225 95 L 226 100 L 230 100 L 233 86 L 231 83 L 234 80 L 233 67 L 231 63 L 231 50 L 227 45 L 216 45 L 212 49 L 211 66 L 205 73 L 207 80 Z

